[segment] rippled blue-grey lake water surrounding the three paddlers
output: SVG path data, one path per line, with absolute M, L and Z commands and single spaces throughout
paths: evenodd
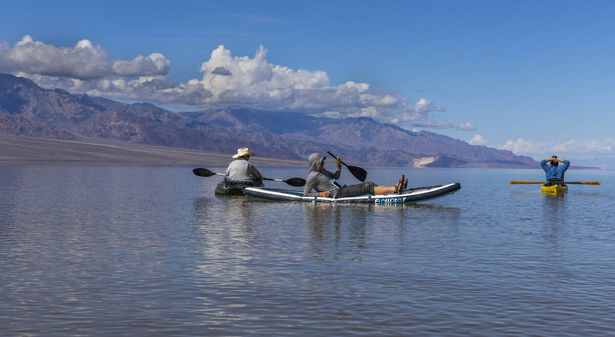
M 613 171 L 554 197 L 508 184 L 540 169 L 368 168 L 462 186 L 376 206 L 215 197 L 192 168 L 0 165 L 0 335 L 613 333 Z

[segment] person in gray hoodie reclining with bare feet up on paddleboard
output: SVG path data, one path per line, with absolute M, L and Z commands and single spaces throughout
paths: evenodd
M 351 186 L 341 186 L 336 180 L 339 179 L 339 174 L 341 173 L 342 160 L 339 157 L 335 158 L 337 169 L 335 173 L 332 173 L 325 170 L 325 159 L 327 157 L 323 157 L 318 153 L 310 154 L 310 171 L 308 179 L 306 179 L 305 188 L 303 189 L 304 197 L 318 196 L 337 199 L 363 196 L 365 194 L 401 193 L 408 186 L 408 180 L 403 175 L 395 186 L 380 186 L 371 181 Z M 312 189 L 315 189 L 316 192 L 312 192 Z

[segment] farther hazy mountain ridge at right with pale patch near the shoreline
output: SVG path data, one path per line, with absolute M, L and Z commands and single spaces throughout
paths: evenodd
M 301 140 L 360 148 L 363 151 L 355 151 L 349 156 L 366 162 L 427 167 L 523 167 L 537 164 L 531 157 L 517 156 L 510 151 L 469 145 L 434 132 L 412 132 L 368 117 L 316 118 L 245 108 L 208 109 L 183 114 L 200 122 L 242 130 L 244 138 L 260 131 L 289 140 L 288 146 L 292 146 L 290 140 Z M 291 148 L 291 151 L 302 154 L 300 148 Z

